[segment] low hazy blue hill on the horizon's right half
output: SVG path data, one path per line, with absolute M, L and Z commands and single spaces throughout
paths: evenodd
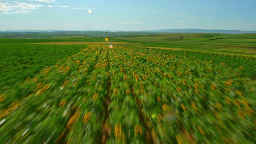
M 220 33 L 220 34 L 245 34 L 245 33 L 256 33 L 256 31 L 203 30 L 203 29 L 146 30 L 145 32 L 153 32 L 153 33 Z

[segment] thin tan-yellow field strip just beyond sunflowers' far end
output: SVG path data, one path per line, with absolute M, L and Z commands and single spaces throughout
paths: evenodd
M 37 45 L 134 45 L 135 43 L 126 42 L 49 42 L 49 43 L 30 43 Z

